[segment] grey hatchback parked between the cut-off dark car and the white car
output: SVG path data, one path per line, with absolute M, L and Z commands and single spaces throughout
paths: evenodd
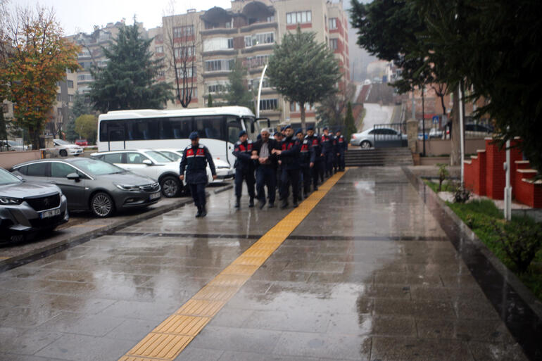
M 158 182 L 98 159 L 33 160 L 14 165 L 11 171 L 27 180 L 56 184 L 70 210 L 90 210 L 97 217 L 144 208 L 160 199 Z

